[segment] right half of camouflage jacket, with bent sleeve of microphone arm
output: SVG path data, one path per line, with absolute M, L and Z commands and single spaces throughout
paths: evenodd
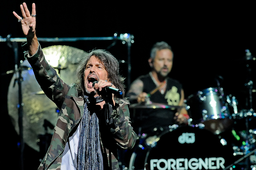
M 109 107 L 110 122 L 106 124 L 105 116 L 101 115 L 100 123 L 100 139 L 103 150 L 102 156 L 108 158 L 108 162 L 104 163 L 105 167 L 111 166 L 112 170 L 119 170 L 117 149 L 132 149 L 136 143 L 137 134 L 133 131 L 130 121 L 129 102 L 124 99 L 115 99 L 115 106 Z M 104 109 L 102 109 L 104 111 Z M 102 112 L 101 114 L 105 114 Z

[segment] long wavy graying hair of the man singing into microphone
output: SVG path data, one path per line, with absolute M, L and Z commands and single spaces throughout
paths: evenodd
M 84 94 L 85 92 L 85 85 L 84 85 L 84 70 L 85 66 L 87 65 L 88 61 L 92 56 L 95 56 L 100 60 L 100 62 L 105 66 L 105 69 L 108 73 L 108 79 L 111 81 L 112 84 L 116 86 L 117 89 L 120 89 L 123 94 L 122 95 L 115 95 L 115 98 L 124 98 L 124 77 L 119 73 L 119 63 L 118 60 L 110 54 L 106 50 L 92 50 L 80 60 L 78 63 L 78 67 L 76 70 L 76 88 L 80 95 Z

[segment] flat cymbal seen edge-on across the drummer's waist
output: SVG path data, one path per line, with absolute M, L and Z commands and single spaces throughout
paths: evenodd
M 131 109 L 178 109 L 183 106 L 172 106 L 163 103 L 151 103 L 151 104 L 131 104 L 129 108 Z

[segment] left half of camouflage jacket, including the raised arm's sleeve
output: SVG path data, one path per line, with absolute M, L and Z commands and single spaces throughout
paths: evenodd
M 77 95 L 74 86 L 69 86 L 59 78 L 55 69 L 45 60 L 40 45 L 36 54 L 31 57 L 27 56 L 27 59 L 45 95 L 60 109 L 52 142 L 38 169 L 60 170 L 62 152 L 64 151 L 68 134 L 80 120 L 84 100 L 81 97 L 74 96 Z

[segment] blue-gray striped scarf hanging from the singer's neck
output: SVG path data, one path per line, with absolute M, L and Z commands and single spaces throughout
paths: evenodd
M 77 169 L 103 170 L 100 151 L 99 119 L 95 112 L 88 110 L 88 96 L 84 96 L 84 115 L 80 123 L 80 137 L 78 143 Z M 103 100 L 96 97 L 96 103 Z

